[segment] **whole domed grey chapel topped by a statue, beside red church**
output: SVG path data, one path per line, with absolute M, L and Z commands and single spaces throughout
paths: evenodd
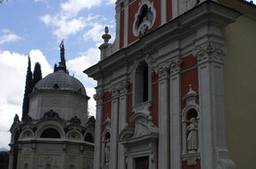
M 11 125 L 9 169 L 93 169 L 94 117 L 83 84 L 67 73 L 64 43 L 54 73 L 35 84 L 29 111 Z

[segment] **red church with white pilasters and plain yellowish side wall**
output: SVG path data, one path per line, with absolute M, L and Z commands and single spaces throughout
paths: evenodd
M 255 6 L 116 4 L 116 39 L 106 27 L 84 71 L 97 81 L 94 169 L 252 169 Z

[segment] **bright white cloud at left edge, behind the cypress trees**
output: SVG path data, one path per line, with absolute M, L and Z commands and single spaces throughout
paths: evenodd
M 29 55 L 32 69 L 34 69 L 34 62 L 40 62 L 43 76 L 53 71 L 40 50 L 31 50 Z M 10 51 L 0 52 L 0 77 L 2 79 L 0 83 L 0 148 L 8 149 L 11 138 L 8 130 L 14 115 L 19 114 L 21 117 L 22 114 L 26 68 L 27 55 Z

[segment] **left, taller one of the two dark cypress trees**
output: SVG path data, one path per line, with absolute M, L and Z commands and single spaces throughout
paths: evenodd
M 28 95 L 32 92 L 32 72 L 31 72 L 31 62 L 30 57 L 28 56 L 28 65 L 26 70 L 26 85 L 25 85 L 25 92 L 23 98 L 23 106 L 22 106 L 22 118 L 28 114 L 28 104 L 29 98 Z

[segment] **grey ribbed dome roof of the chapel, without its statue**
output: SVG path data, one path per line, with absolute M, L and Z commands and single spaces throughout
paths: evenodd
M 77 78 L 70 76 L 61 69 L 42 78 L 35 84 L 33 92 L 38 90 L 73 91 L 87 96 L 84 85 Z

